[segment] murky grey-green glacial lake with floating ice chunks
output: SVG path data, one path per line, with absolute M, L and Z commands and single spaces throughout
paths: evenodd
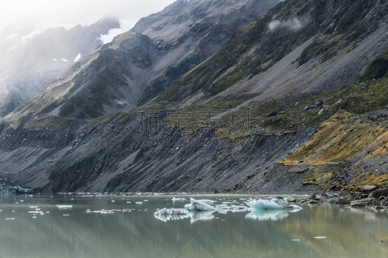
M 244 204 L 257 196 L 0 196 L 0 258 L 388 257 L 388 212 L 300 204 L 297 212 L 154 217 L 189 203 L 172 197 Z

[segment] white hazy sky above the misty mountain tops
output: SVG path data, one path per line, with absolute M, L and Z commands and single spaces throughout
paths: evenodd
M 123 19 L 126 27 L 141 17 L 161 11 L 175 0 L 1 0 L 0 28 L 27 23 L 42 30 L 57 26 L 69 29 L 90 25 L 105 15 Z M 130 29 L 130 28 L 126 28 Z

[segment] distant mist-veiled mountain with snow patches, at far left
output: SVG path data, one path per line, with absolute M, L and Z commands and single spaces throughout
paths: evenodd
M 88 27 L 78 25 L 32 34 L 28 26 L 6 26 L 0 31 L 0 116 L 12 112 L 33 95 L 46 89 L 65 70 L 102 44 L 107 34 L 120 24 L 104 18 Z M 7 36 L 8 35 L 8 36 Z

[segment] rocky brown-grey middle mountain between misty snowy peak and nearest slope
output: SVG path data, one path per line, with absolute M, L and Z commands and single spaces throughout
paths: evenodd
M 278 2 L 178 0 L 75 64 L 16 115 L 94 118 L 138 106 Z

